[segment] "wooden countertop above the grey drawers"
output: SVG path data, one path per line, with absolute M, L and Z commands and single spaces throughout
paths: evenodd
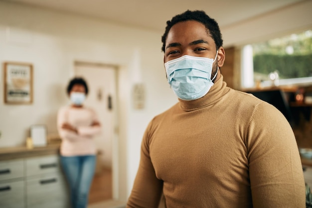
M 59 144 L 50 144 L 45 147 L 34 147 L 32 149 L 27 149 L 26 147 L 0 148 L 0 161 L 55 155 L 59 154 L 59 148 Z

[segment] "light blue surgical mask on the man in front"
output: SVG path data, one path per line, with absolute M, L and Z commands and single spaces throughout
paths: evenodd
M 182 100 L 195 100 L 203 97 L 212 87 L 213 62 L 216 57 L 205 58 L 184 55 L 164 64 L 167 79 L 174 93 Z M 219 67 L 218 67 L 219 69 Z

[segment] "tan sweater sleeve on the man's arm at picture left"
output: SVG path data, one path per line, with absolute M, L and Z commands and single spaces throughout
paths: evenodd
M 148 131 L 143 137 L 139 170 L 127 208 L 157 208 L 160 201 L 163 182 L 156 178 L 150 158 Z

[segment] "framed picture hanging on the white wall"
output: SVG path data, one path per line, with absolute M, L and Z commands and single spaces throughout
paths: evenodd
M 32 103 L 32 70 L 30 63 L 4 62 L 4 103 Z

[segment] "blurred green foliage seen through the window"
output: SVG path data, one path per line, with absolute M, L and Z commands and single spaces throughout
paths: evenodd
M 312 76 L 312 30 L 253 44 L 255 74 L 278 71 L 281 79 Z

